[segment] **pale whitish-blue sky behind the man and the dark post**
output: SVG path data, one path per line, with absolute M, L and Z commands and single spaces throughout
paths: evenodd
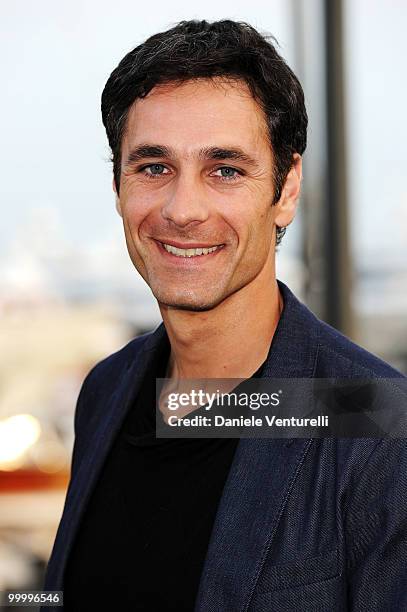
M 49 211 L 78 247 L 119 234 L 100 95 L 125 53 L 181 19 L 232 18 L 274 34 L 295 70 L 292 11 L 300 1 L 209 0 L 204 7 L 161 0 L 3 3 L 0 252 L 36 211 L 39 218 Z M 307 2 L 305 7 L 316 0 Z M 346 0 L 345 5 L 352 247 L 400 255 L 407 238 L 407 3 Z M 310 130 L 316 129 L 311 123 Z M 41 239 L 40 223 L 33 231 Z M 290 241 L 294 246 L 298 232 L 285 240 L 287 248 Z

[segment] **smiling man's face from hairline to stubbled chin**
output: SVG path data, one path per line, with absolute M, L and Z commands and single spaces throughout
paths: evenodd
M 208 310 L 265 267 L 274 278 L 272 202 L 265 119 L 246 84 L 163 85 L 131 107 L 118 209 L 161 305 Z

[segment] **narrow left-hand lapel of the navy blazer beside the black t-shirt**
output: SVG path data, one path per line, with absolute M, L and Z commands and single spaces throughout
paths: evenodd
M 99 421 L 92 438 L 89 440 L 87 451 L 83 455 L 77 471 L 72 475 L 67 491 L 64 512 L 58 528 L 55 548 L 52 551 L 53 563 L 49 563 L 50 571 L 47 574 L 47 583 L 52 584 L 54 590 L 63 589 L 65 566 L 81 516 L 97 482 L 108 451 L 153 360 L 154 352 L 164 338 L 165 328 L 161 324 L 147 338 L 132 363 L 128 364 L 120 385 L 106 401 L 106 404 L 101 407 L 103 418 Z M 123 367 L 126 367 L 126 364 Z

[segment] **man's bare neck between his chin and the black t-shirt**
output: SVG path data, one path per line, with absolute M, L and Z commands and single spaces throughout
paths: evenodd
M 250 378 L 268 355 L 282 308 L 275 277 L 265 284 L 261 274 L 209 311 L 160 305 L 171 344 L 166 377 Z

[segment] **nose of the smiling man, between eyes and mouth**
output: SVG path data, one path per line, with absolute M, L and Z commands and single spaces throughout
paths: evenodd
M 193 173 L 179 175 L 173 183 L 173 190 L 162 206 L 161 214 L 167 221 L 179 227 L 192 222 L 203 223 L 209 216 L 209 206 L 205 201 L 198 178 Z

